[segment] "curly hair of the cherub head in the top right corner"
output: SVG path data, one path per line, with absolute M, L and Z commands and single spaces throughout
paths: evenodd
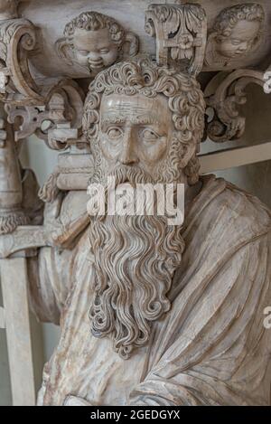
M 259 38 L 263 32 L 265 11 L 261 5 L 256 5 L 255 3 L 235 5 L 222 10 L 217 17 L 213 31 L 220 37 L 229 37 L 238 21 L 245 20 L 249 22 L 258 21 L 260 23 L 260 30 L 257 36 Z

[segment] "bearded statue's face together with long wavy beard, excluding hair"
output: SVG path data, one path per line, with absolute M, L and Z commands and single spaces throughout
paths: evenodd
M 103 96 L 99 117 L 103 180 L 110 175 L 116 185 L 155 184 L 173 155 L 172 167 L 179 172 L 180 142 L 173 141 L 173 117 L 164 95 Z M 127 359 L 135 347 L 147 344 L 152 323 L 171 307 L 167 295 L 184 249 L 181 228 L 157 214 L 105 215 L 92 219 L 90 240 L 96 269 L 92 334 L 110 336 Z

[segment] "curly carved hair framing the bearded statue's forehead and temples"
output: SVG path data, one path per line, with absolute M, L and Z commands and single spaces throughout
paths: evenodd
M 89 86 L 83 114 L 83 131 L 94 155 L 95 165 L 101 164 L 98 145 L 99 107 L 103 95 L 117 93 L 133 96 L 142 94 L 154 98 L 164 94 L 172 112 L 175 128 L 172 149 L 168 162 L 167 177 L 176 181 L 183 172 L 180 169 L 182 155 L 187 145 L 195 146 L 195 153 L 184 172 L 189 184 L 199 180 L 200 164 L 197 153 L 203 137 L 205 102 L 200 85 L 193 77 L 173 68 L 158 66 L 148 58 L 135 57 L 130 61 L 117 63 L 98 74 Z

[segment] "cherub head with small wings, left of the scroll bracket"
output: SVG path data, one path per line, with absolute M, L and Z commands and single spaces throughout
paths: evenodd
M 138 39 L 105 14 L 86 12 L 66 24 L 64 38 L 57 42 L 60 57 L 97 74 L 124 54 L 138 51 Z M 128 51 L 127 50 L 128 47 Z

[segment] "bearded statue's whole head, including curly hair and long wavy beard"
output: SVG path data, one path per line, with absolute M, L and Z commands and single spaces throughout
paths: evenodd
M 113 65 L 90 84 L 84 134 L 95 161 L 93 183 L 198 181 L 196 159 L 204 100 L 186 74 L 135 58 Z M 151 325 L 170 309 L 174 271 L 182 260 L 181 227 L 164 216 L 94 216 L 89 237 L 95 266 L 91 331 L 110 336 L 127 359 L 147 344 Z

